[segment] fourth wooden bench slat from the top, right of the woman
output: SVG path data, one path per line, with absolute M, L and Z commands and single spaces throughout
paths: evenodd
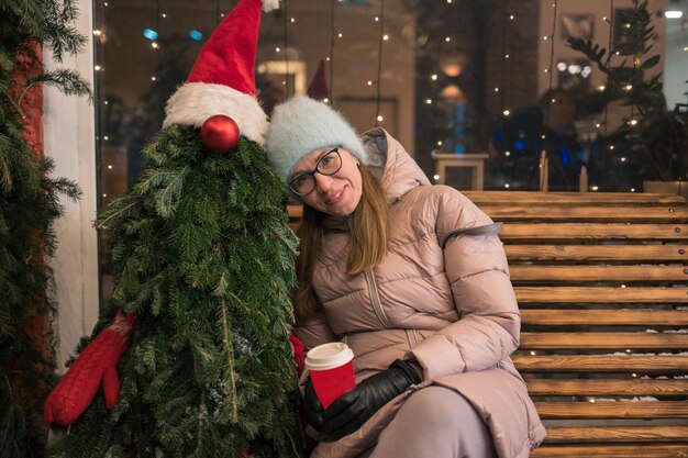
M 512 260 L 683 260 L 688 245 L 504 245 Z

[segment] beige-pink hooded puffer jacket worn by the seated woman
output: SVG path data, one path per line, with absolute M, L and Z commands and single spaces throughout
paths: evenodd
M 430 186 L 384 130 L 365 133 L 363 141 L 379 161 L 371 169 L 391 204 L 389 252 L 373 271 L 347 276 L 349 222 L 328 220 L 313 282 L 322 313 L 297 323 L 296 334 L 307 349 L 346 342 L 357 381 L 397 358 L 415 358 L 425 379 L 415 389 L 439 384 L 457 391 L 489 426 L 501 458 L 528 457 L 545 429 L 509 358 L 519 346 L 521 321 L 502 244 L 490 231 L 452 235 L 489 228 L 492 221 L 457 190 Z M 321 442 L 312 457 L 362 454 L 410 393 L 355 433 Z

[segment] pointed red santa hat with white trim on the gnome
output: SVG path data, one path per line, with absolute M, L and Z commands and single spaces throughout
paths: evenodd
M 242 135 L 264 144 L 268 121 L 255 87 L 260 7 L 270 11 L 278 3 L 241 0 L 234 7 L 208 38 L 187 81 L 167 101 L 163 127 L 200 127 L 208 118 L 224 114 L 236 122 Z

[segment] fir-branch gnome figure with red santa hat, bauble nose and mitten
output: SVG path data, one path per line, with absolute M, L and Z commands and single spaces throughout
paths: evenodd
M 48 420 L 70 425 L 54 457 L 300 455 L 297 241 L 262 147 L 259 15 L 259 0 L 242 0 L 219 25 L 144 148 L 140 180 L 97 221 L 115 287 L 46 403 Z

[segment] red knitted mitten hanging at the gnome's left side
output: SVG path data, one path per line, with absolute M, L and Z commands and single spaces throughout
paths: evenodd
M 43 407 L 46 422 L 68 426 L 96 398 L 101 380 L 106 406 L 112 410 L 120 394 L 116 365 L 131 343 L 136 314 L 116 311 L 112 324 L 91 340 L 51 392 Z

